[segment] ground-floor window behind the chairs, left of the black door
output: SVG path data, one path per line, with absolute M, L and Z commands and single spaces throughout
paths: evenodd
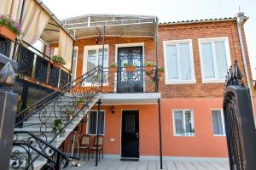
M 97 133 L 97 112 L 98 111 L 90 111 L 88 114 L 88 121 L 87 121 L 87 134 L 96 135 Z M 99 113 L 99 134 L 104 134 L 105 127 L 105 113 L 104 111 L 100 111 Z

